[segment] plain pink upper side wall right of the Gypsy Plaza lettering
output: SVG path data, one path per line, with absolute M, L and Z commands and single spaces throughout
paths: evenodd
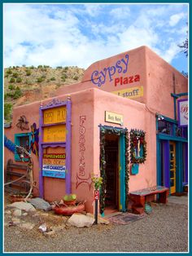
M 148 47 L 146 47 L 146 74 L 146 106 L 153 112 L 174 119 L 171 93 L 188 92 L 188 79 Z

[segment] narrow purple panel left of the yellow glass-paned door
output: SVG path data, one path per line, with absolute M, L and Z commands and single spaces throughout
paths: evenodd
M 170 188 L 170 159 L 169 159 L 169 141 L 163 143 L 164 152 L 164 186 Z

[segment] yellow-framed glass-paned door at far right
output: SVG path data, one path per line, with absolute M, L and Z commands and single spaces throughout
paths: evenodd
M 170 154 L 170 192 L 171 194 L 176 192 L 176 143 L 170 141 L 169 143 L 169 154 Z

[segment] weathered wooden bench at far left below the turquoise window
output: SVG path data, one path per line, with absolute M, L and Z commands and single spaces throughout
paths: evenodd
M 12 183 L 16 179 L 19 180 Z M 27 193 L 30 188 L 28 179 L 28 166 L 21 163 L 14 163 L 11 159 L 9 159 L 7 161 L 5 183 L 10 183 L 5 186 L 5 191 L 7 192 Z

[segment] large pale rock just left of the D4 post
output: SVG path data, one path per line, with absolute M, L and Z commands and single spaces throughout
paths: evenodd
M 94 224 L 94 218 L 85 214 L 72 214 L 67 223 L 75 227 L 91 227 Z

